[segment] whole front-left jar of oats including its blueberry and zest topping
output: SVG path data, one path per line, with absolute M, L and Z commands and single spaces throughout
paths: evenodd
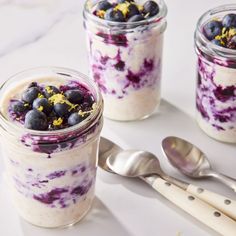
M 94 198 L 103 102 L 79 72 L 39 68 L 0 88 L 5 180 L 19 214 L 42 227 L 78 222 Z

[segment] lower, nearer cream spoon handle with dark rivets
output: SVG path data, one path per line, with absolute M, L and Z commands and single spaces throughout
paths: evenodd
M 148 178 L 145 178 L 148 182 Z M 235 236 L 236 222 L 181 188 L 156 178 L 152 187 L 191 216 L 224 236 Z

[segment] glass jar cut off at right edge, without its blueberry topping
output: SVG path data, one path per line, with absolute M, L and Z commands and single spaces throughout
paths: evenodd
M 236 4 L 206 12 L 197 24 L 196 119 L 210 137 L 236 143 L 236 50 L 217 46 L 203 34 L 207 22 L 229 13 L 236 13 Z

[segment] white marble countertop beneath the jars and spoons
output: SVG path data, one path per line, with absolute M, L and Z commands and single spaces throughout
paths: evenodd
M 36 66 L 70 67 L 87 74 L 83 3 L 84 0 L 0 0 L 0 82 Z M 203 12 L 224 4 L 225 0 L 166 0 L 166 3 L 169 13 L 160 111 L 139 122 L 105 120 L 103 135 L 124 148 L 155 153 L 169 174 L 187 180 L 170 167 L 160 149 L 165 136 L 181 136 L 198 144 L 213 167 L 236 178 L 235 145 L 210 139 L 194 121 L 195 25 Z M 4 167 L 0 164 L 2 172 Z M 191 182 L 235 199 L 234 193 L 212 180 Z M 19 219 L 8 199 L 0 177 L 0 235 L 3 236 L 216 235 L 145 183 L 101 170 L 93 209 L 70 229 L 33 227 Z

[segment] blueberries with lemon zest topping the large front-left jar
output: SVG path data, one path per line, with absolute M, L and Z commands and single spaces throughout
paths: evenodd
M 11 101 L 9 112 L 25 128 L 56 130 L 83 121 L 92 112 L 93 104 L 93 96 L 82 86 L 57 88 L 33 82 L 22 93 L 21 100 Z

